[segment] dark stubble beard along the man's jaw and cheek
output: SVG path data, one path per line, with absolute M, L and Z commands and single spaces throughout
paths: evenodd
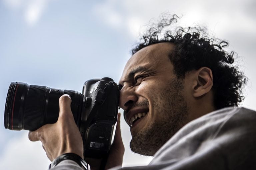
M 157 114 L 163 114 L 161 121 L 152 124 L 136 133 L 130 142 L 133 152 L 153 156 L 164 143 L 166 143 L 181 127 L 187 123 L 187 105 L 181 91 L 182 81 L 174 79 L 169 86 L 155 96 L 153 108 Z

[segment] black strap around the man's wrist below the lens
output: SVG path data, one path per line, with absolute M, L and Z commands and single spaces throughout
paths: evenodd
M 84 167 L 85 170 L 90 170 L 89 164 L 87 164 L 80 156 L 78 156 L 75 153 L 65 153 L 63 155 L 60 155 L 59 157 L 52 161 L 52 163 L 49 166 L 49 169 L 55 167 L 58 163 L 60 163 L 63 160 L 75 161 L 79 166 Z

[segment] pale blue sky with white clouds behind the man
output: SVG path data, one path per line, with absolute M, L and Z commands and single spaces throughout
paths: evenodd
M 41 142 L 28 131 L 4 128 L 4 105 L 11 82 L 82 91 L 92 78 L 119 81 L 147 24 L 162 13 L 183 16 L 180 25 L 206 26 L 230 42 L 229 50 L 249 79 L 241 106 L 256 110 L 254 0 L 1 0 L 0 1 L 0 169 L 48 168 Z M 152 157 L 129 149 L 131 135 L 121 120 L 123 166 L 146 165 Z

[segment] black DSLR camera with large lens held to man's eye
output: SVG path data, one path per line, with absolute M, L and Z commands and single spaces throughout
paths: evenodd
M 84 157 L 106 156 L 111 146 L 119 102 L 119 88 L 111 78 L 86 81 L 82 94 L 12 82 L 6 97 L 4 127 L 33 131 L 57 122 L 59 98 L 63 94 L 72 99 L 71 111 L 84 142 Z

